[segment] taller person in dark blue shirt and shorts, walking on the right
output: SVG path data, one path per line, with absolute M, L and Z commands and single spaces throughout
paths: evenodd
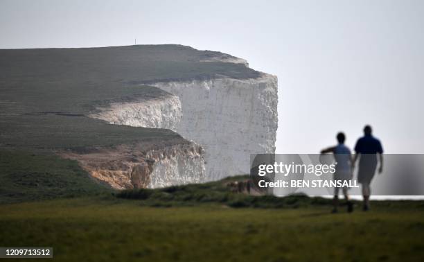
M 357 182 L 362 185 L 362 195 L 364 197 L 363 210 L 369 210 L 369 197 L 371 195 L 370 184 L 373 180 L 374 174 L 378 164 L 378 157 L 380 159 L 380 166 L 378 173 L 382 173 L 383 157 L 382 157 L 382 146 L 380 140 L 373 137 L 373 130 L 370 125 L 364 127 L 364 137 L 357 140 L 355 146 L 355 157 L 353 157 L 352 167 L 355 166 L 355 162 L 358 158 L 359 169 L 357 172 Z

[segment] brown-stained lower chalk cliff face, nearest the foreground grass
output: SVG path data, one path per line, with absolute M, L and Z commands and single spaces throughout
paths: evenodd
M 153 189 L 205 181 L 203 149 L 191 142 L 172 146 L 137 143 L 58 154 L 77 160 L 92 177 L 114 189 Z

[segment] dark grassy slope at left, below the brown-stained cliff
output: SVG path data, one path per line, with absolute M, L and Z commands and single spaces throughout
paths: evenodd
M 0 204 L 110 193 L 76 161 L 51 154 L 0 150 Z

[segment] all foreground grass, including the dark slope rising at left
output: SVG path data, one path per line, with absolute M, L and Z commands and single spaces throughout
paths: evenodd
M 328 199 L 251 196 L 227 186 L 245 176 L 117 192 L 73 161 L 16 157 L 2 164 L 14 173 L 2 177 L 10 194 L 1 198 L 15 203 L 0 204 L 1 247 L 53 247 L 57 261 L 424 259 L 423 201 L 372 202 L 369 212 L 355 202 L 353 213 L 332 214 Z M 40 164 L 55 172 L 42 173 Z

